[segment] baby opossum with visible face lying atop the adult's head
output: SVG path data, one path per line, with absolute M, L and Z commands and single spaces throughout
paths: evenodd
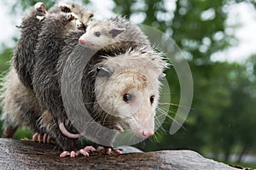
M 79 42 L 87 48 L 104 51 L 127 50 L 128 48 L 151 48 L 148 37 L 138 26 L 121 16 L 88 23 L 86 32 Z

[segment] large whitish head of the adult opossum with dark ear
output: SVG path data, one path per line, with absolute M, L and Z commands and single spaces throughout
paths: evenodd
M 119 128 L 137 136 L 154 135 L 163 62 L 154 53 L 130 51 L 104 59 L 97 66 L 96 107 L 101 107 Z M 109 121 L 109 120 L 108 120 Z

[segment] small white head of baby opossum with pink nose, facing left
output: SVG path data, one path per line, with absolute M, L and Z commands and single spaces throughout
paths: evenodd
M 108 46 L 119 42 L 119 35 L 123 31 L 125 28 L 119 28 L 109 21 L 91 21 L 84 35 L 79 38 L 79 43 L 95 50 L 109 48 Z

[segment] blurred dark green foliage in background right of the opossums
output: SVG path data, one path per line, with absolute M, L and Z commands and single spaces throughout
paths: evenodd
M 54 1 L 42 1 L 48 8 Z M 236 37 L 226 29 L 227 11 L 224 7 L 234 3 L 255 1 L 240 0 L 177 0 L 176 9 L 168 11 L 166 0 L 120 1 L 113 0 L 113 12 L 128 18 L 132 14 L 145 16 L 142 24 L 153 26 L 177 43 L 183 53 L 189 56 L 195 95 L 192 109 L 183 128 L 173 135 L 168 134 L 172 123 L 169 118 L 163 124 L 166 133 L 158 132 L 155 138 L 147 140 L 137 147 L 143 150 L 196 150 L 205 156 L 212 156 L 221 161 L 228 161 L 230 154 L 237 154 L 236 161 L 241 161 L 244 154 L 256 154 L 256 95 L 255 66 L 256 54 L 249 56 L 243 64 L 213 62 L 210 56 L 223 51 L 236 42 Z M 10 8 L 14 12 L 26 9 L 36 1 L 17 1 Z M 83 1 L 84 4 L 90 1 Z M 140 5 L 138 5 L 140 4 Z M 209 18 L 202 14 L 213 11 Z M 166 17 L 170 20 L 166 20 Z M 236 29 L 236 26 L 229 27 Z M 220 35 L 220 37 L 219 37 Z M 15 37 L 18 38 L 18 37 Z M 236 44 L 236 43 L 235 43 Z M 7 61 L 11 58 L 12 48 L 2 45 L 0 69 L 6 71 Z M 172 80 L 172 103 L 178 104 L 179 84 L 175 71 L 167 71 Z M 170 115 L 175 116 L 177 106 L 170 105 Z M 1 126 L 1 124 L 0 124 Z M 27 129 L 20 130 L 16 138 L 26 135 Z M 208 155 L 211 153 L 212 155 Z M 223 154 L 223 157 L 219 157 Z

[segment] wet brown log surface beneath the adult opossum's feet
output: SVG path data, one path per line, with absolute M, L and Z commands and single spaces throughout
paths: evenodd
M 237 170 L 204 158 L 191 150 L 127 153 L 119 156 L 91 154 L 60 158 L 51 144 L 0 139 L 0 169 L 204 169 Z M 126 148 L 129 151 L 129 147 Z M 125 148 L 124 148 L 125 150 Z M 132 150 L 132 152 L 137 150 Z M 139 151 L 139 150 L 138 150 Z

